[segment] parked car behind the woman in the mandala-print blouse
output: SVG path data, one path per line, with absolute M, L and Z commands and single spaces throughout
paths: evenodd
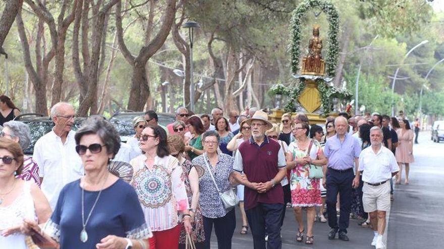
M 143 117 L 145 112 L 133 112 L 129 110 L 122 110 L 115 113 L 111 118 L 109 118 L 109 122 L 114 124 L 117 131 L 120 134 L 120 138 L 122 142 L 126 142 L 129 137 L 134 136 L 136 132 L 133 128 L 133 119 L 137 116 Z M 157 113 L 159 118 L 158 123 L 167 126 L 168 124 L 176 121 L 176 117 L 174 114 L 170 113 Z

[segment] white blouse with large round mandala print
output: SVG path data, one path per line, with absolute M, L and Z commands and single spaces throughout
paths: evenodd
M 156 156 L 152 170 L 146 167 L 145 160 L 145 154 L 131 160 L 131 185 L 151 231 L 171 229 L 181 222 L 179 211 L 189 208 L 182 167 L 171 155 Z

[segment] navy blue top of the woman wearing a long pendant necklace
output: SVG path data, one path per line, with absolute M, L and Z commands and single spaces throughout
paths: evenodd
M 85 221 L 98 193 L 84 191 Z M 102 190 L 86 224 L 86 242 L 80 241 L 82 229 L 82 189 L 79 179 L 62 189 L 57 206 L 45 226 L 45 232 L 58 240 L 61 248 L 95 248 L 95 245 L 108 235 L 133 239 L 152 236 L 136 191 L 121 179 Z

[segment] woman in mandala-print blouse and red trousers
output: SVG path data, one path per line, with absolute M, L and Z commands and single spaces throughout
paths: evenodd
M 188 233 L 192 229 L 182 167 L 170 155 L 167 132 L 158 125 L 143 129 L 140 148 L 145 153 L 130 162 L 134 169 L 131 185 L 154 234 L 150 248 L 177 249 L 181 222 Z

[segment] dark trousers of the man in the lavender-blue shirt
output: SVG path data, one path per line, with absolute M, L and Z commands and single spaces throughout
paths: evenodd
M 328 225 L 331 228 L 339 229 L 347 233 L 350 221 L 350 211 L 352 208 L 352 183 L 353 183 L 353 169 L 346 171 L 336 171 L 328 169 L 326 174 L 327 180 L 327 213 Z M 339 193 L 340 214 L 339 224 L 336 214 L 336 203 Z

